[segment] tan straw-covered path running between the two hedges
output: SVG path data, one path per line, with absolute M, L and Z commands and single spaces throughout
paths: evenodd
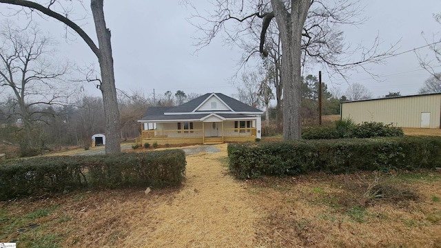
M 252 247 L 257 216 L 242 184 L 227 174 L 227 145 L 184 150 L 187 179 L 181 191 L 146 216 L 136 216 L 139 222 L 124 246 Z M 155 223 L 145 223 L 152 218 Z

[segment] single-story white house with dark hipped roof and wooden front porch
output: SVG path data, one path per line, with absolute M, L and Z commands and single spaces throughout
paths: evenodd
M 221 93 L 207 93 L 176 107 L 149 107 L 136 143 L 213 144 L 261 138 L 263 111 Z

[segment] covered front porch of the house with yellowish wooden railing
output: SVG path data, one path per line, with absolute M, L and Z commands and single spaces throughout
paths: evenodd
M 260 119 L 259 119 L 260 121 Z M 141 123 L 141 136 L 136 144 L 218 144 L 250 142 L 258 138 L 257 119 L 227 121 L 206 119 L 203 121 L 179 121 Z M 259 136 L 260 137 L 260 136 Z

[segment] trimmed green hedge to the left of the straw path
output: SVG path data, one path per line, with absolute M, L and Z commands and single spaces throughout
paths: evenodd
M 178 185 L 185 164 L 181 149 L 10 161 L 0 165 L 0 200 L 74 189 Z

